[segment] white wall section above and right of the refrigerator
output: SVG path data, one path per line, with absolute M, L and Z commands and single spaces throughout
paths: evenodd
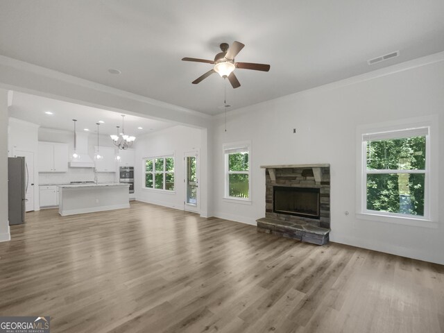
M 16 156 L 17 151 L 28 151 L 34 155 L 34 210 L 40 210 L 38 184 L 38 136 L 39 126 L 19 119 L 9 118 L 8 126 L 8 156 Z

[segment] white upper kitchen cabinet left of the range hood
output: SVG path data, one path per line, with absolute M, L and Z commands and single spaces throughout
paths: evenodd
M 39 142 L 39 172 L 67 172 L 68 145 Z

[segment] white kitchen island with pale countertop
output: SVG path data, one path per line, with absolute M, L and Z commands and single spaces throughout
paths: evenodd
M 130 207 L 123 183 L 60 185 L 58 213 L 62 216 Z

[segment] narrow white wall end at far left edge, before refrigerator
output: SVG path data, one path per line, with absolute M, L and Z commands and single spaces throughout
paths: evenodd
M 8 142 L 8 92 L 0 89 L 0 142 Z M 8 145 L 0 144 L 0 241 L 8 241 Z

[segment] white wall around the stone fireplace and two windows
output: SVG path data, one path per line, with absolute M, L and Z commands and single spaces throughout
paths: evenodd
M 439 207 L 438 229 L 364 221 L 355 216 L 357 126 L 438 114 L 438 158 L 444 165 L 444 61 L 368 77 L 230 112 L 226 133 L 219 117 L 212 146 L 214 215 L 245 223 L 255 223 L 265 215 L 265 178 L 260 165 L 330 163 L 332 241 L 444 264 L 444 205 Z M 222 145 L 244 140 L 252 142 L 252 205 L 222 198 Z M 444 198 L 444 176 L 438 182 L 439 198 Z M 437 198 L 434 204 L 439 205 Z

